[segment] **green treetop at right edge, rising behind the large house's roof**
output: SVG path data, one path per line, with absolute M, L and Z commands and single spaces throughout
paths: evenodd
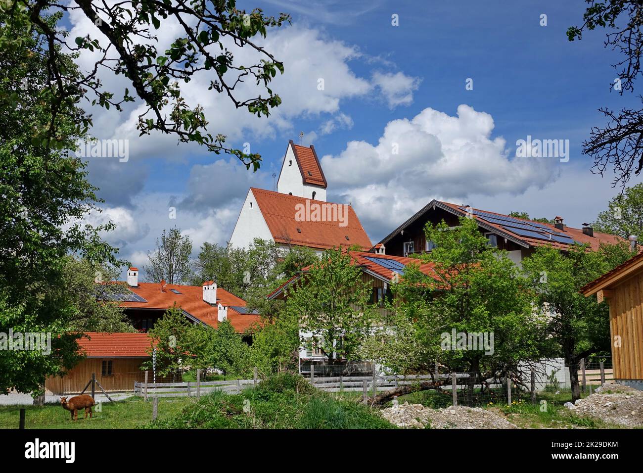
M 643 236 L 643 183 L 625 189 L 608 203 L 592 224 L 597 232 L 627 238 Z

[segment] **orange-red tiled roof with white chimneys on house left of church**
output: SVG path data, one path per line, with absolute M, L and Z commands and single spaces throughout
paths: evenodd
M 127 287 L 147 302 L 121 302 L 122 307 L 167 310 L 176 302 L 177 307 L 201 320 L 204 324 L 217 328 L 219 310 L 217 306 L 211 306 L 203 301 L 202 286 L 165 284 L 163 291 L 161 291 L 160 283 L 138 283 L 136 287 Z M 172 289 L 179 294 L 172 292 Z M 217 302 L 228 306 L 228 320 L 239 333 L 243 333 L 260 320 L 257 314 L 242 314 L 231 308 L 230 306 L 245 307 L 246 301 L 219 287 L 217 287 Z

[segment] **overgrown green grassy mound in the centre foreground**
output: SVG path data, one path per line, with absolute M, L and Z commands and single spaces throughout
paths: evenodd
M 314 389 L 297 375 L 277 375 L 242 394 L 214 391 L 152 428 L 172 429 L 392 429 L 354 398 Z

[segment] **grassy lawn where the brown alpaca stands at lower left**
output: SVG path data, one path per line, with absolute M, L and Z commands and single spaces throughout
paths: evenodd
M 194 403 L 192 398 L 159 398 L 158 419 L 171 418 L 191 403 Z M 26 408 L 26 429 L 136 429 L 152 421 L 152 403 L 131 397 L 102 403 L 102 412 L 95 411 L 91 419 L 84 420 L 84 411 L 79 412 L 75 422 L 71 420 L 69 411 L 62 409 L 60 404 L 47 404 L 44 407 L 0 405 L 0 429 L 18 428 L 20 407 Z

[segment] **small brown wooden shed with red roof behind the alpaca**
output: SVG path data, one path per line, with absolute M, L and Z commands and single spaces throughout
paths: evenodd
M 46 379 L 52 394 L 80 393 L 93 373 L 107 392 L 132 391 L 135 381 L 145 380 L 141 364 L 150 357 L 147 333 L 86 333 L 78 345 L 86 358 L 66 375 Z

